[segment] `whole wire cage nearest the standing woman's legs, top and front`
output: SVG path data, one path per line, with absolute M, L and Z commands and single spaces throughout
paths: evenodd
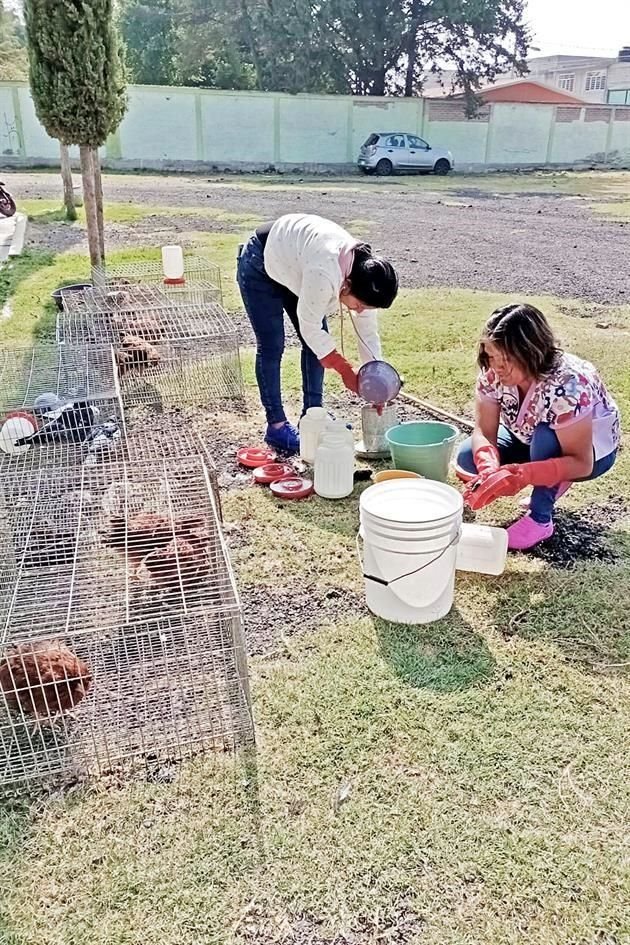
M 244 403 L 238 330 L 217 302 L 173 301 L 152 285 L 63 293 L 60 344 L 109 345 L 126 405 Z

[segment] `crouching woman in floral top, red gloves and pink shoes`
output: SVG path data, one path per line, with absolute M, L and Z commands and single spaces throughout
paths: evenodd
M 574 482 L 611 468 L 619 410 L 593 365 L 561 351 L 533 305 L 493 312 L 478 361 L 477 420 L 457 472 L 472 509 L 534 487 L 529 512 L 508 529 L 509 547 L 524 551 L 553 535 L 554 505 Z

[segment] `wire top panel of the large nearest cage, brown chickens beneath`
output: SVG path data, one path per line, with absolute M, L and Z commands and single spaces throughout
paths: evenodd
M 0 522 L 9 639 L 233 605 L 215 487 L 199 455 L 24 473 Z

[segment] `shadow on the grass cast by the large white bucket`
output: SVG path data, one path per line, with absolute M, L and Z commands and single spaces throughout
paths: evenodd
M 410 686 L 454 692 L 485 682 L 494 672 L 485 641 L 457 610 L 424 626 L 372 619 L 384 658 Z

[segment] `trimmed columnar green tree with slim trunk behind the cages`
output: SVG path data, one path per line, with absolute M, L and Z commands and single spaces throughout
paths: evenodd
M 37 116 L 62 144 L 78 144 L 92 266 L 105 258 L 98 148 L 126 109 L 112 0 L 26 0 L 31 92 Z

